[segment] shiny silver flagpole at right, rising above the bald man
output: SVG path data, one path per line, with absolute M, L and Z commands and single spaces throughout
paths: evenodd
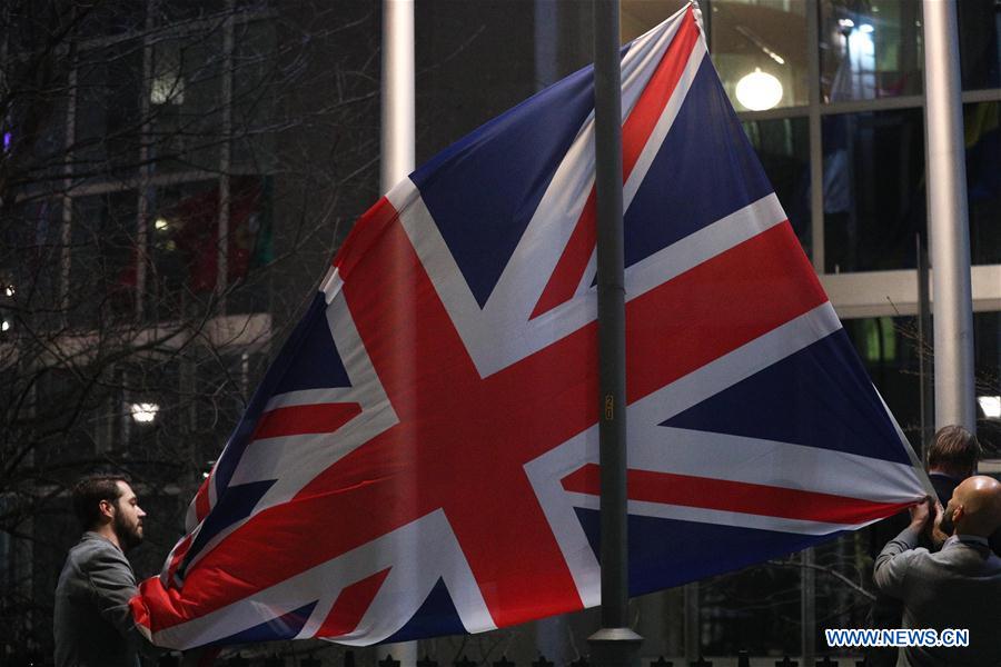
M 934 319 L 935 426 L 973 431 L 973 301 L 955 3 L 924 0 L 928 226 Z

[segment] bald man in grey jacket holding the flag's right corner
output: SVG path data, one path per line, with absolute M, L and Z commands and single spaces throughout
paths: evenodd
M 1001 526 L 1001 482 L 970 477 L 949 505 L 930 511 L 931 500 L 911 508 L 911 524 L 876 558 L 873 580 L 903 601 L 903 627 L 969 629 L 969 647 L 900 649 L 898 666 L 1001 665 L 1001 558 L 988 536 Z M 934 520 L 934 525 L 932 525 Z M 948 536 L 932 554 L 919 548 L 922 532 Z

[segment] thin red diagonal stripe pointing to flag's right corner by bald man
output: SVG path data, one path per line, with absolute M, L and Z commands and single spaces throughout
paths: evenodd
M 630 470 L 626 484 L 630 500 L 846 526 L 889 517 L 913 505 L 650 470 Z M 563 488 L 597 496 L 601 467 L 588 464 L 564 477 Z

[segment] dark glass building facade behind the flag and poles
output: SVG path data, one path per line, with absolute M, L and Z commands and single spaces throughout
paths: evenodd
M 22 477 L 0 487 L 0 663 L 49 649 L 46 615 L 75 538 L 62 491 L 81 469 L 115 460 L 142 481 L 149 532 L 161 537 L 137 570 L 158 569 L 274 345 L 379 193 L 378 2 L 91 4 L 66 3 L 54 23 L 32 10 L 44 2 L 0 11 L 0 458 L 23 461 L 11 468 Z M 921 2 L 700 6 L 713 62 L 790 222 L 920 447 L 932 354 L 918 296 L 918 248 L 928 246 Z M 682 7 L 622 0 L 623 41 Z M 957 9 L 978 430 L 1001 459 L 1001 7 Z M 415 10 L 418 162 L 592 60 L 584 1 L 416 0 Z M 46 50 L 53 34 L 63 41 Z M 156 354 L 121 354 L 132 350 L 122 331 Z M 98 356 L 52 362 L 47 350 L 67 335 L 98 341 L 88 348 Z M 820 653 L 817 628 L 864 624 L 856 588 L 871 589 L 885 537 L 859 532 L 635 600 L 644 658 L 797 656 L 811 643 Z M 562 665 L 587 653 L 596 627 L 586 611 L 420 651 L 443 663 L 506 653 L 519 664 L 542 651 Z M 340 655 L 317 653 L 331 665 Z

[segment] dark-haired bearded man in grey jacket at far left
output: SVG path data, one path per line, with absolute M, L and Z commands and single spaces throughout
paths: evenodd
M 142 541 L 146 512 L 118 477 L 81 480 L 73 509 L 86 532 L 56 588 L 56 667 L 137 667 L 145 639 L 129 608 L 136 575 L 125 552 Z

